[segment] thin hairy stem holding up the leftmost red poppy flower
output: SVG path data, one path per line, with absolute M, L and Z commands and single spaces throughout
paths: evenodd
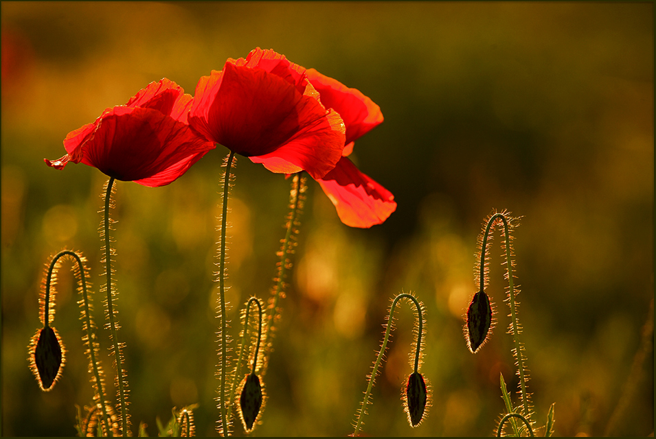
M 104 241 L 105 241 L 105 245 L 104 245 L 104 252 L 105 252 L 104 263 L 105 263 L 105 276 L 106 276 L 105 290 L 107 293 L 107 317 L 109 318 L 111 339 L 114 343 L 113 351 L 116 361 L 116 381 L 118 385 L 118 393 L 121 403 L 122 436 L 128 436 L 128 412 L 127 412 L 128 405 L 127 405 L 127 395 L 126 395 L 127 393 L 126 382 L 124 382 L 126 377 L 124 376 L 123 361 L 122 361 L 123 355 L 121 354 L 121 344 L 118 342 L 117 322 L 115 321 L 115 315 L 117 314 L 117 310 L 113 308 L 113 303 L 112 303 L 114 292 L 112 288 L 113 282 L 111 278 L 111 274 L 113 272 L 111 266 L 111 254 L 113 253 L 113 249 L 111 248 L 111 237 L 109 235 L 109 230 L 111 230 L 110 227 L 111 219 L 109 217 L 109 209 L 113 207 L 111 202 L 113 187 L 114 187 L 114 177 L 110 177 L 109 181 L 107 182 L 106 191 L 105 191 L 104 222 L 103 222 L 103 230 L 102 230 L 102 234 L 104 235 Z

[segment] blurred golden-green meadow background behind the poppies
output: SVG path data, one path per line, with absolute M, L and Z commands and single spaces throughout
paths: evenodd
M 555 402 L 557 436 L 653 434 L 653 335 L 645 361 L 634 361 L 654 293 L 653 42 L 653 3 L 3 2 L 3 436 L 73 436 L 75 405 L 91 402 L 68 270 L 54 320 L 68 351 L 63 378 L 43 393 L 27 368 L 50 255 L 84 252 L 104 322 L 106 176 L 81 164 L 56 171 L 43 158 L 63 156 L 69 131 L 149 82 L 166 77 L 193 94 L 201 75 L 254 47 L 381 106 L 385 121 L 352 157 L 398 202 L 385 224 L 348 228 L 310 180 L 255 436 L 351 433 L 390 298 L 402 290 L 427 309 L 421 371 L 432 407 L 409 428 L 399 396 L 413 321 L 401 307 L 365 433 L 490 436 L 504 410 L 499 372 L 517 386 L 498 233 L 488 289 L 498 323 L 477 355 L 462 316 L 493 209 L 523 216 L 519 318 L 538 423 Z M 166 187 L 117 182 L 120 340 L 133 429 L 144 421 L 151 436 L 156 417 L 191 403 L 200 404 L 197 433 L 216 435 L 213 272 L 225 154 L 218 147 Z M 269 296 L 289 186 L 239 159 L 232 305 Z M 113 376 L 107 357 L 104 369 Z

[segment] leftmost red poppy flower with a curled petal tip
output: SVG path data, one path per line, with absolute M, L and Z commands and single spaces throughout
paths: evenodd
M 68 154 L 45 163 L 63 169 L 82 162 L 117 180 L 168 185 L 216 147 L 189 128 L 192 102 L 175 82 L 151 82 L 124 106 L 107 108 L 95 122 L 69 132 Z

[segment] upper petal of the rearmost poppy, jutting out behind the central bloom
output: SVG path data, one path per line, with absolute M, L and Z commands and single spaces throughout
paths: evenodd
M 306 70 L 306 75 L 321 95 L 321 104 L 334 108 L 346 124 L 346 143 L 359 139 L 383 122 L 381 107 L 356 88 L 348 88 L 315 69 Z

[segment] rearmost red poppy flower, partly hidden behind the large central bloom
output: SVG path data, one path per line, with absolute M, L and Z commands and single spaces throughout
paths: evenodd
M 317 182 L 347 226 L 368 228 L 382 224 L 396 210 L 394 195 L 346 158 L 356 139 L 383 122 L 381 108 L 355 88 L 348 88 L 315 69 L 308 69 L 306 75 L 321 95 L 321 102 L 335 109 L 346 124 L 343 157 Z

